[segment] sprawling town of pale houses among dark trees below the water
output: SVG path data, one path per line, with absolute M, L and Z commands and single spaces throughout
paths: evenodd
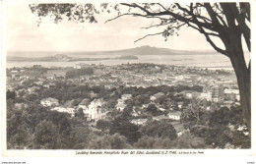
M 8 147 L 246 148 L 239 100 L 234 73 L 226 70 L 149 63 L 14 67 L 7 69 Z M 23 127 L 11 130 L 14 119 L 24 119 Z M 47 128 L 59 140 L 43 140 Z M 12 142 L 20 131 L 28 137 Z M 111 137 L 120 143 L 113 146 Z

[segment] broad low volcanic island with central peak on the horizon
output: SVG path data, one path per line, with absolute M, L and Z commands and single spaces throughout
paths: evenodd
M 173 50 L 167 48 L 151 47 L 148 45 L 113 51 L 95 51 L 95 52 L 74 52 L 69 54 L 83 54 L 83 55 L 213 55 L 216 51 L 183 51 Z

